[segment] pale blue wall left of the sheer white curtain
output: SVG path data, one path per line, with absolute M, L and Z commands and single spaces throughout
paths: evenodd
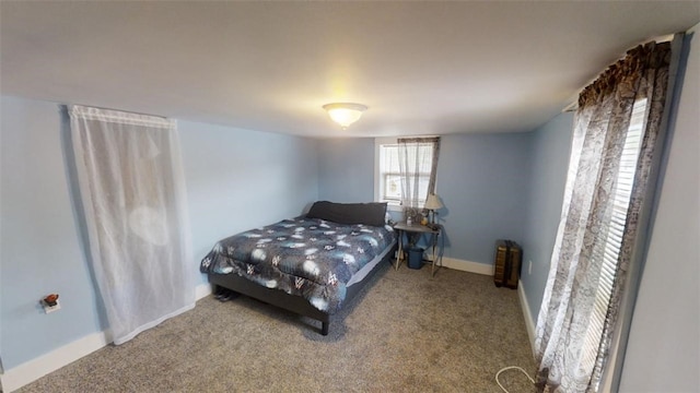
M 2 97 L 0 354 L 4 369 L 103 330 L 75 223 L 56 104 Z M 39 299 L 58 293 L 61 309 Z

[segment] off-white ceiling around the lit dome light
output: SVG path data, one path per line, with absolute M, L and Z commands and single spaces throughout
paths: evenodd
M 700 1 L 8 2 L 0 92 L 305 136 L 530 131 Z M 369 106 L 341 130 L 322 106 Z

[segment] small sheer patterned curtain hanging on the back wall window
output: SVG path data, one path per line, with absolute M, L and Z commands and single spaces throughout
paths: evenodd
M 435 193 L 440 136 L 398 139 L 404 217 L 416 219 L 423 212 L 428 195 Z

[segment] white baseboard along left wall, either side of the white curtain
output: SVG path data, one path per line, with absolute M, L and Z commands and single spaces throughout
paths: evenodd
M 211 285 L 209 283 L 195 287 L 197 300 L 209 294 L 211 294 Z M 15 391 L 63 366 L 70 365 L 83 356 L 92 354 L 109 343 L 112 343 L 112 337 L 109 337 L 107 331 L 93 333 L 54 349 L 46 355 L 4 370 L 3 373 L 0 373 L 0 386 L 2 388 L 0 391 L 5 393 Z

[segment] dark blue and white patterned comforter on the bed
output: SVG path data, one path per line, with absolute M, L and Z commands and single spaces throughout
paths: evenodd
M 298 217 L 225 238 L 202 259 L 200 271 L 238 274 L 268 288 L 306 298 L 328 313 L 346 298 L 346 284 L 394 245 L 385 225 L 347 225 Z

